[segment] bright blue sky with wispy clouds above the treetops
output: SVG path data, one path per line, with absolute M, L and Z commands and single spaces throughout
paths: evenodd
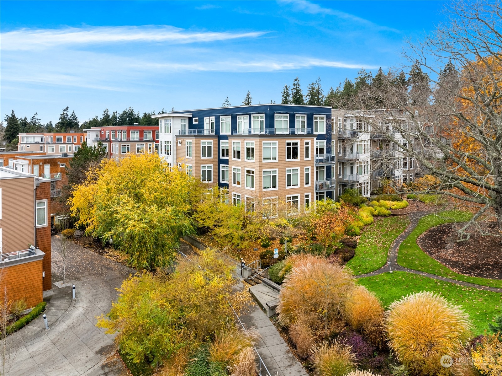
M 0 2 L 0 112 L 43 123 L 69 106 L 195 109 L 280 103 L 285 83 L 324 92 L 362 67 L 408 64 L 408 39 L 444 18 L 444 2 Z

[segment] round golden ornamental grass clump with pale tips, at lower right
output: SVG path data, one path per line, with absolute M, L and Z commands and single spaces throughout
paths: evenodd
M 443 355 L 458 357 L 469 338 L 468 315 L 430 292 L 394 302 L 386 313 L 389 346 L 397 359 L 421 372 L 439 372 Z

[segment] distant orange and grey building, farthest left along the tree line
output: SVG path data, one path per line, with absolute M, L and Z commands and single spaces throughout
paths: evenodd
M 18 151 L 39 151 L 48 155 L 73 154 L 85 141 L 85 133 L 20 133 Z

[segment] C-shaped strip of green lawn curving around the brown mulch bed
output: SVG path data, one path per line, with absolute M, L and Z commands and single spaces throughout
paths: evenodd
M 471 216 L 472 214 L 469 212 L 451 210 L 421 218 L 417 227 L 401 243 L 398 253 L 398 264 L 409 269 L 421 270 L 451 279 L 463 280 L 472 284 L 502 288 L 502 280 L 471 277 L 454 272 L 429 256 L 417 245 L 417 238 L 431 227 L 455 221 L 466 222 Z

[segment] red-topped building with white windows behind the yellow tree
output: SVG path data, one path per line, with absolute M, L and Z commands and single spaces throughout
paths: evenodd
M 119 160 L 128 153 L 158 153 L 159 127 L 140 126 L 109 126 L 84 129 L 89 146 L 95 146 L 99 141 L 106 148 L 108 158 Z

